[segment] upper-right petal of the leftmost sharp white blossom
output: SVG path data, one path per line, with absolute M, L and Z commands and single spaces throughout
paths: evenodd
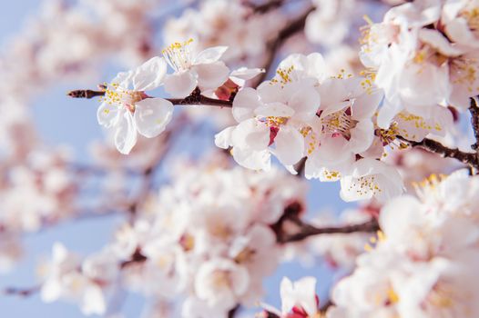
M 164 58 L 155 56 L 140 65 L 133 76 L 133 87 L 136 91 L 148 91 L 162 84 L 167 74 L 167 62 Z

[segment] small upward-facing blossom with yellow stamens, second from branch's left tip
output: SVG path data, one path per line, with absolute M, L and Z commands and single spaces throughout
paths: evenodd
M 175 71 L 165 77 L 165 90 L 173 97 L 184 98 L 198 86 L 203 91 L 215 90 L 228 79 L 229 68 L 219 59 L 227 46 L 209 47 L 193 55 L 190 39 L 174 43 L 163 50 L 168 65 Z

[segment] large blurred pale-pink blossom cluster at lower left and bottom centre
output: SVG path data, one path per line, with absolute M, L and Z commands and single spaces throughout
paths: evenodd
M 272 225 L 289 206 L 303 206 L 306 184 L 276 169 L 180 164 L 177 174 L 100 253 L 81 263 L 56 246 L 44 300 L 70 299 L 83 313 L 103 314 L 121 281 L 155 302 L 186 296 L 185 317 L 224 317 L 238 304 L 258 303 L 262 279 L 281 260 Z

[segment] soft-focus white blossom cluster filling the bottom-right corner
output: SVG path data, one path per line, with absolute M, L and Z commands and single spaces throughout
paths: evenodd
M 328 317 L 478 316 L 478 190 L 461 170 L 386 204 L 382 232 L 333 289 Z

